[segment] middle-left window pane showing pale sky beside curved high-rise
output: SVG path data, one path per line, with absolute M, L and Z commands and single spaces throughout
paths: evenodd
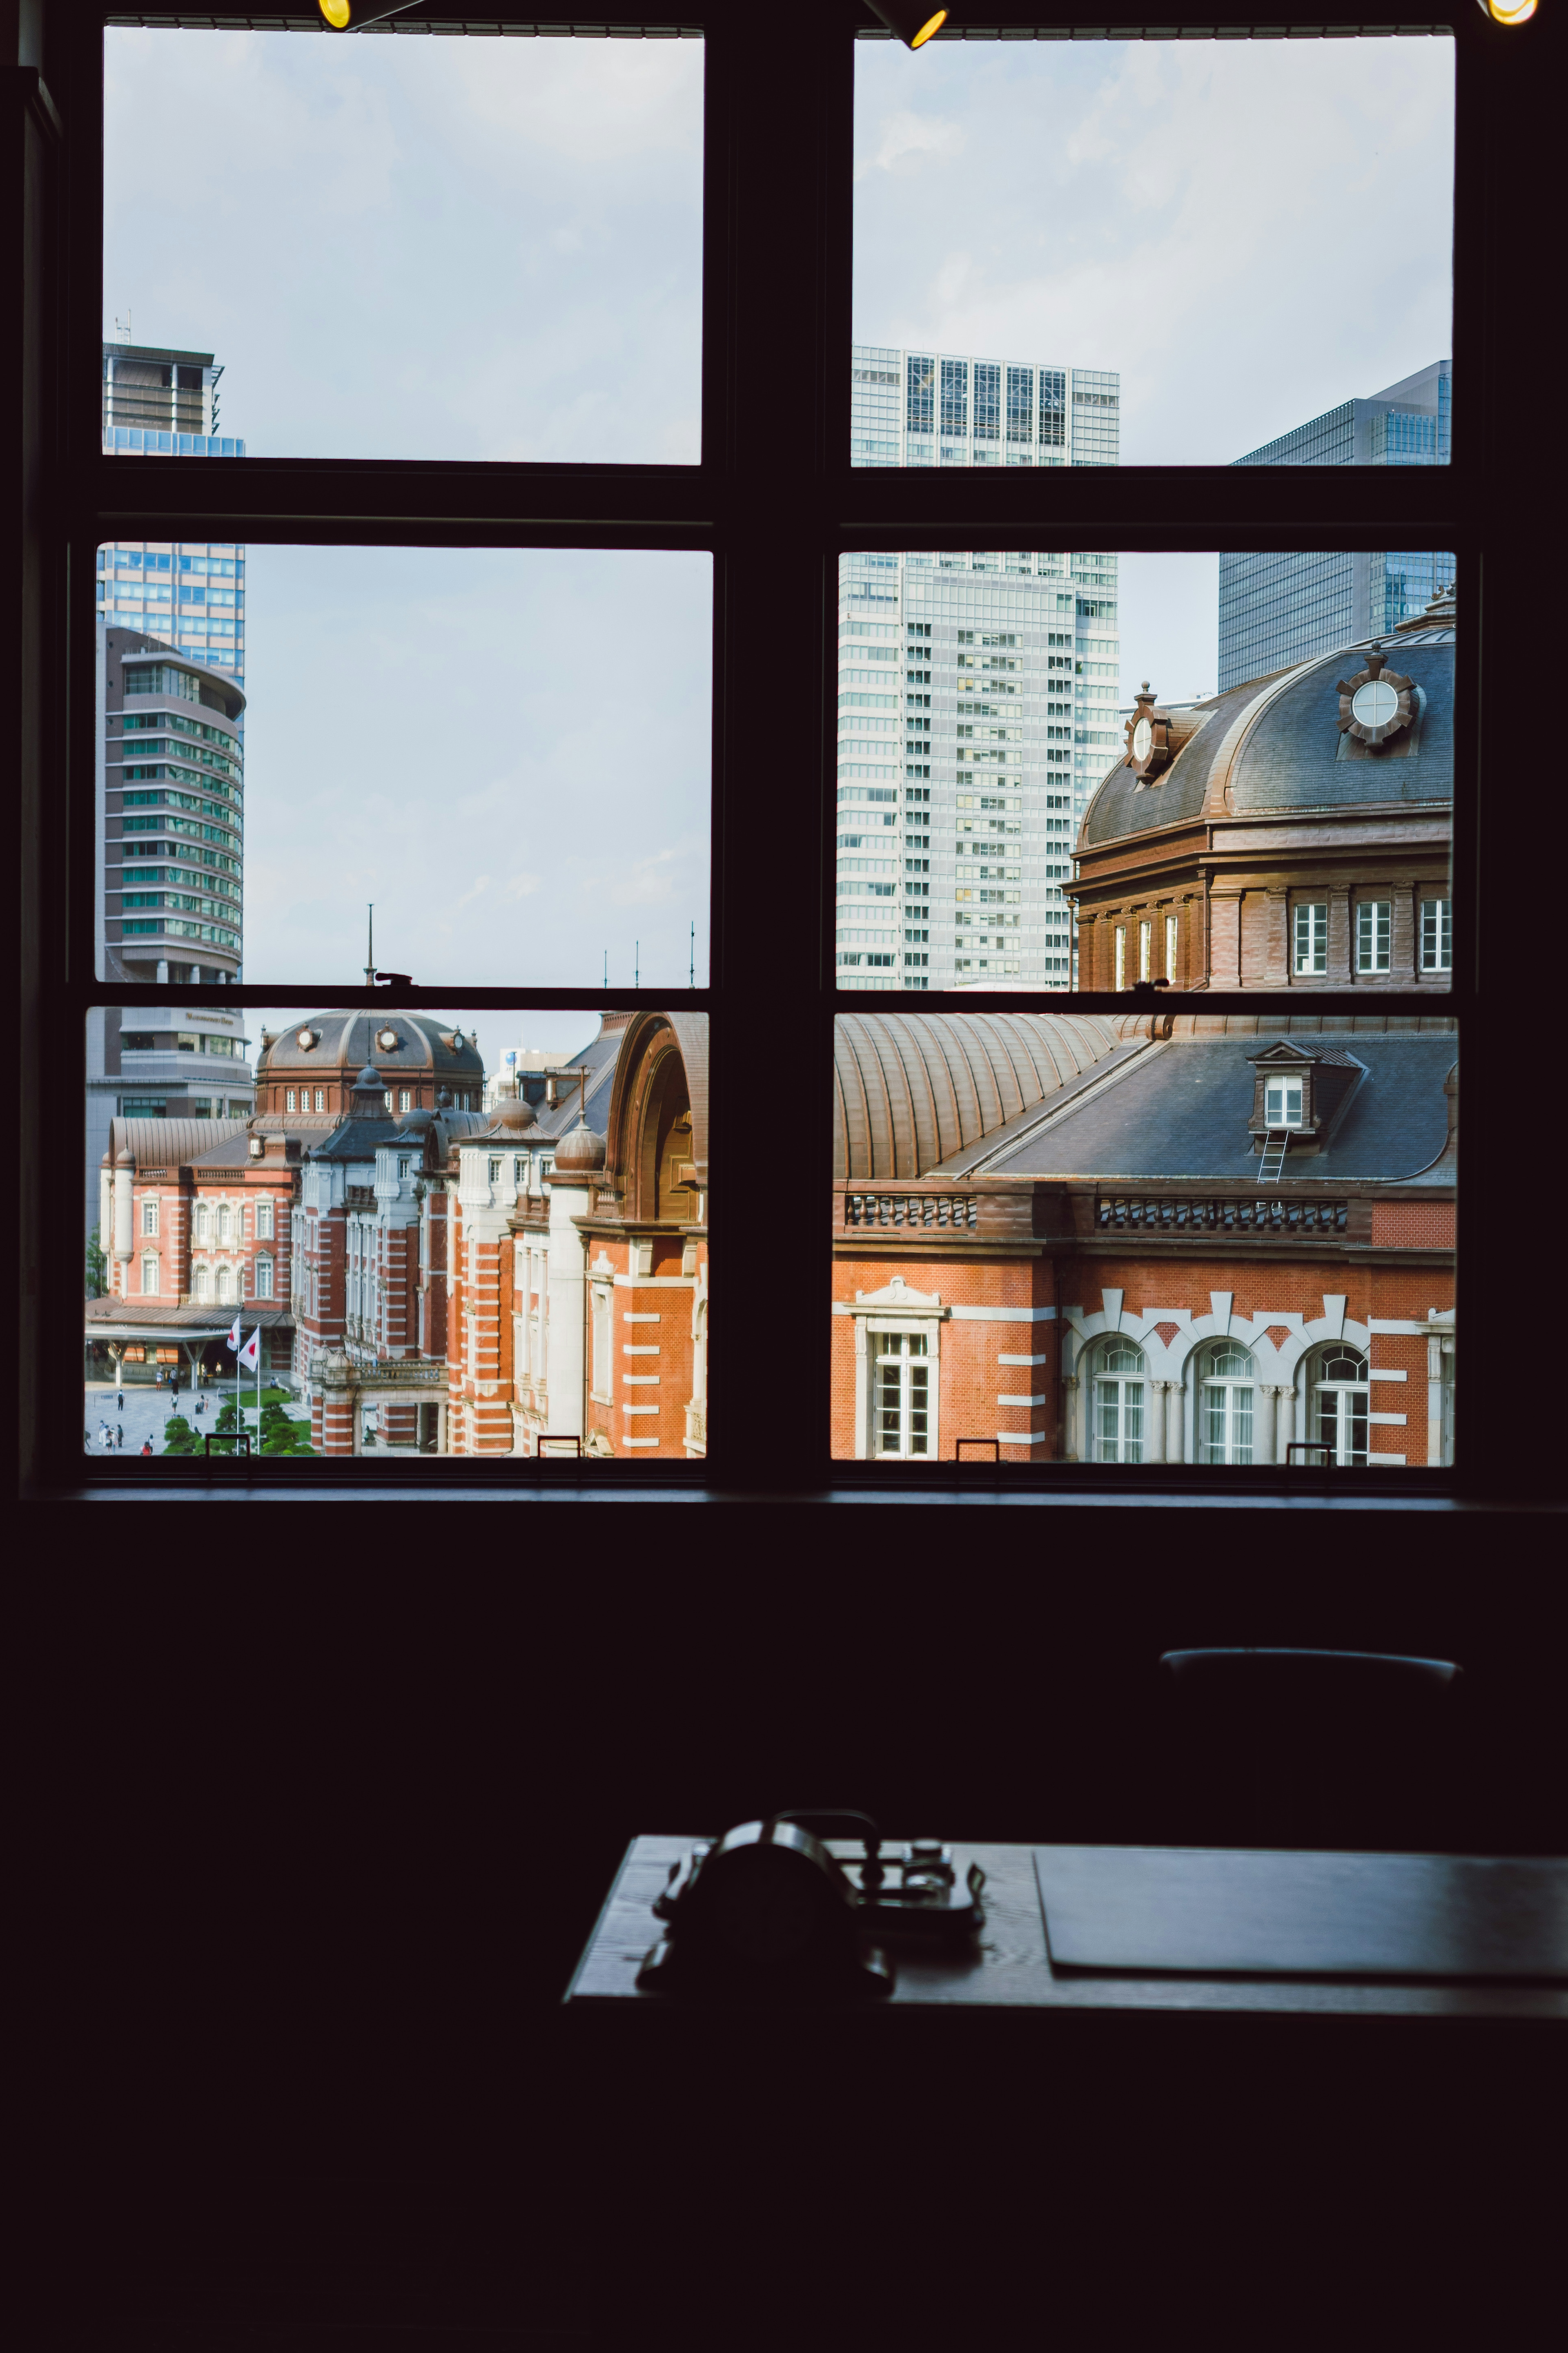
M 710 612 L 708 555 L 101 548 L 99 976 L 348 986 L 374 904 L 418 986 L 705 984 Z

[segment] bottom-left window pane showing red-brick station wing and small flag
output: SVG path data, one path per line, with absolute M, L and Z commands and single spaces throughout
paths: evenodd
M 233 1452 L 237 1372 L 266 1454 L 705 1457 L 703 1014 L 247 1007 L 223 1092 L 136 1019 L 87 1021 L 89 1454 Z

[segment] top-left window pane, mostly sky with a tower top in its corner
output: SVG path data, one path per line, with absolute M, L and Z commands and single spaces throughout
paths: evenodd
M 698 40 L 103 45 L 106 447 L 698 459 Z

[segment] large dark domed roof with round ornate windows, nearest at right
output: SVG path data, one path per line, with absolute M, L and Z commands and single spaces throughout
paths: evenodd
M 1164 826 L 1284 812 L 1295 816 L 1401 802 L 1422 816 L 1453 800 L 1453 602 L 1382 638 L 1314 654 L 1288 671 L 1229 687 L 1206 704 L 1147 715 L 1168 741 L 1164 769 L 1117 762 L 1088 802 L 1079 849 L 1103 849 Z M 1408 722 L 1382 741 L 1347 725 L 1373 673 L 1408 692 Z

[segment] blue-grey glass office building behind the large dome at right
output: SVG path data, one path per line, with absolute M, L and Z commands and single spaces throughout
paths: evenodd
M 1368 400 L 1345 400 L 1237 466 L 1446 466 L 1453 365 L 1434 360 Z M 1399 628 L 1453 581 L 1446 551 L 1220 555 L 1220 694 Z

